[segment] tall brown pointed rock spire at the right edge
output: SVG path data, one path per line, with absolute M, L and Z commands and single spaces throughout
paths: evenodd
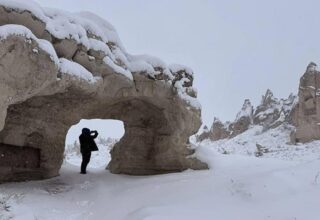
M 320 72 L 310 63 L 300 78 L 299 103 L 292 114 L 296 131 L 292 142 L 307 142 L 320 138 Z

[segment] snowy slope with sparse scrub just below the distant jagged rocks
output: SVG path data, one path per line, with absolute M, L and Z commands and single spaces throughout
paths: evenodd
M 257 145 L 266 153 L 261 157 L 292 161 L 320 159 L 320 141 L 296 145 L 289 143 L 290 132 L 294 129 L 288 124 L 264 131 L 262 126 L 252 126 L 249 130 L 231 139 L 218 141 L 205 140 L 200 145 L 212 148 L 223 154 L 256 156 Z

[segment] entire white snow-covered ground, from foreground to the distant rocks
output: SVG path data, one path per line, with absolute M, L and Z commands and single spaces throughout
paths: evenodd
M 285 128 L 259 129 L 201 143 L 198 155 L 211 166 L 204 171 L 114 175 L 102 154 L 92 158 L 105 158 L 101 167 L 80 175 L 77 154 L 68 154 L 59 177 L 0 185 L 0 219 L 320 219 L 319 142 L 287 145 Z M 255 157 L 256 142 L 270 153 Z

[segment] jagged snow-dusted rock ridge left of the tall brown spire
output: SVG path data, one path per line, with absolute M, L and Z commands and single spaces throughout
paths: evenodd
M 233 138 L 254 125 L 263 127 L 263 130 L 276 128 L 283 123 L 291 123 L 293 117 L 293 108 L 297 103 L 297 97 L 290 94 L 287 99 L 277 99 L 271 90 L 267 90 L 262 96 L 260 105 L 254 108 L 249 99 L 244 101 L 241 110 L 236 115 L 233 122 L 221 122 L 215 118 L 211 129 L 204 135 L 197 136 L 198 141 L 210 139 L 213 141 Z

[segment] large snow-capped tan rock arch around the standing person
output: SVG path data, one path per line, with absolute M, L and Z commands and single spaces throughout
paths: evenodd
M 128 54 L 87 12 L 0 0 L 0 25 L 1 182 L 58 175 L 68 129 L 93 118 L 124 122 L 113 173 L 207 168 L 188 143 L 201 124 L 190 69 Z

